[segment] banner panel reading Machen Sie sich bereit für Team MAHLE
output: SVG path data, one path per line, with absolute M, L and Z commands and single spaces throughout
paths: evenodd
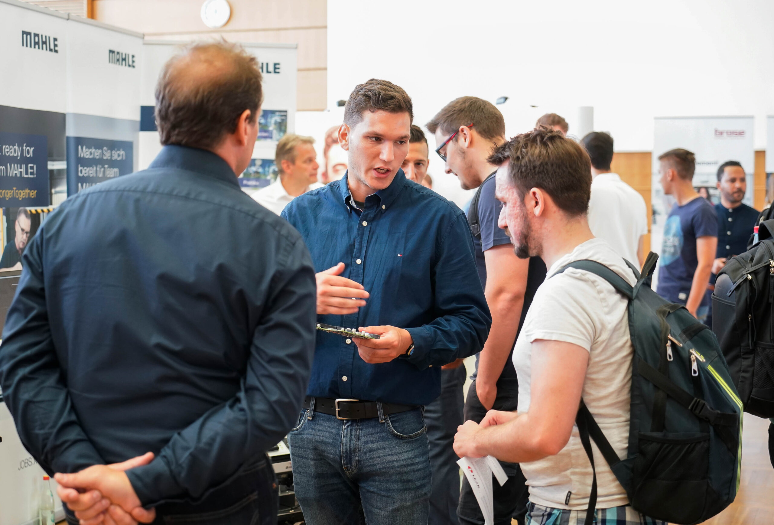
M 67 20 L 68 197 L 135 171 L 141 70 L 142 33 Z

